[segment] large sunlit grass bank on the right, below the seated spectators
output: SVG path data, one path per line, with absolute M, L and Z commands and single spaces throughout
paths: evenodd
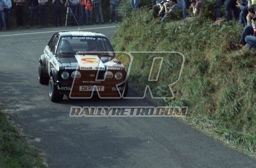
M 226 143 L 256 155 L 256 52 L 237 52 L 243 27 L 237 21 L 213 25 L 207 18 L 192 22 L 182 20 L 159 24 L 151 11 L 140 9 L 123 19 L 113 45 L 116 51 L 169 51 L 184 55 L 185 63 L 179 81 L 172 86 L 175 98 L 165 99 L 168 106 L 187 106 L 184 120 Z M 129 75 L 132 87 L 144 91 L 152 56 L 137 54 Z M 165 66 L 178 68 L 174 57 Z M 147 66 L 148 65 L 148 66 Z M 167 86 L 178 72 L 164 71 L 155 86 Z M 161 76 L 161 74 L 160 74 Z M 139 79 L 139 80 L 137 80 Z M 171 82 L 170 82 L 171 81 Z M 160 96 L 167 92 L 158 92 Z

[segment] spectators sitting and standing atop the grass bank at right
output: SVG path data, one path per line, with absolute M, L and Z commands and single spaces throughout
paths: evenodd
M 222 17 L 221 6 L 224 4 L 226 15 Z M 204 0 L 156 0 L 156 4 L 152 6 L 152 15 L 154 18 L 161 18 L 161 22 L 167 18 L 191 21 L 195 17 L 201 17 L 204 6 Z M 233 47 L 252 47 L 256 50 L 256 0 L 217 0 L 216 19 L 216 22 L 235 19 L 238 25 L 245 26 L 239 42 L 233 43 Z

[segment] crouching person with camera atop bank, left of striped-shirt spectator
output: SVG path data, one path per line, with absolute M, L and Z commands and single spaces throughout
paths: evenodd
M 177 0 L 169 0 L 170 8 L 167 8 L 167 3 L 164 3 L 165 15 L 162 18 L 161 22 L 164 22 L 167 16 L 171 16 L 171 18 L 181 18 L 182 5 L 177 2 Z

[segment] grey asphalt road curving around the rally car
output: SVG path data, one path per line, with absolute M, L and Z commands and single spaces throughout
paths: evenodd
M 53 103 L 38 82 L 38 60 L 59 30 L 0 32 L 0 101 L 16 112 L 49 168 L 256 168 L 256 159 L 230 149 L 174 117 L 70 117 L 71 106 L 155 106 L 142 100 L 69 100 Z M 113 37 L 115 24 L 81 30 Z M 130 88 L 132 91 L 132 88 Z

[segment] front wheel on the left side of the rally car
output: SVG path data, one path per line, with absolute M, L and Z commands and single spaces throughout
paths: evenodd
M 54 80 L 52 76 L 49 79 L 48 91 L 49 91 L 49 97 L 52 102 L 60 101 L 64 96 L 64 94 L 59 94 L 57 85 L 54 84 Z

